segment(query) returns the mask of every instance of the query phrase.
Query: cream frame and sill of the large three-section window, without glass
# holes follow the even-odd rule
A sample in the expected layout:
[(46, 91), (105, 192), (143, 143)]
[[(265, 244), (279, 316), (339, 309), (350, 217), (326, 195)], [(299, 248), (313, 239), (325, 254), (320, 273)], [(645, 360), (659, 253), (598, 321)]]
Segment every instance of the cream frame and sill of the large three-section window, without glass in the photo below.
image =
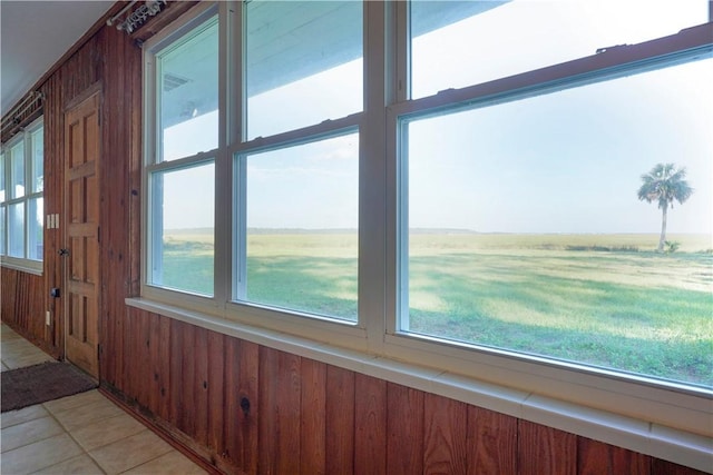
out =
[[(139, 298), (127, 304), (261, 345), (385, 378), (469, 404), (607, 442), (644, 454), (710, 469), (713, 462), (713, 390), (643, 376), (593, 369), (507, 350), (458, 345), (398, 330), (403, 294), (400, 217), (404, 211), (398, 142), (399, 121), (430, 111), (490, 103), (509, 95), (544, 93), (587, 81), (599, 81), (637, 69), (657, 68), (692, 51), (713, 50), (713, 23), (677, 34), (616, 48), (602, 55), (545, 67), (462, 89), (407, 99), (408, 24), (404, 2), (364, 3), (364, 110), (335, 121), (242, 142), (240, 98), (242, 2), (219, 2), (219, 145), (216, 164), (215, 295), (203, 298), (141, 285)], [(144, 191), (155, 141), (150, 51), (185, 33), (212, 3), (202, 4), (145, 46)], [(385, 27), (384, 27), (385, 26)], [(257, 149), (296, 144), (358, 128), (359, 177), (359, 321), (315, 318), (258, 305), (236, 303), (232, 289), (233, 194), (225, 180), (235, 177), (234, 157)], [(197, 159), (197, 158), (196, 158)], [(145, 202), (148, 202), (148, 197)], [(147, 205), (148, 206), (148, 205)], [(150, 239), (150, 214), (144, 208), (143, 259)], [(240, 221), (240, 218), (236, 219)]]

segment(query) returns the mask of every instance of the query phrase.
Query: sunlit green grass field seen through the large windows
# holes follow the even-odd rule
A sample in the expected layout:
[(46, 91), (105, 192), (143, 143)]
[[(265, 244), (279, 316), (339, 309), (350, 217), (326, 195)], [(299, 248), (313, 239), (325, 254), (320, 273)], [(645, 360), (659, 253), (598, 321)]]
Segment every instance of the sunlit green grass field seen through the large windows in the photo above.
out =
[[(419, 231), (411, 331), (713, 386), (710, 236)], [(248, 236), (247, 298), (356, 318), (355, 234)], [(212, 237), (166, 236), (164, 281), (211, 294)]]

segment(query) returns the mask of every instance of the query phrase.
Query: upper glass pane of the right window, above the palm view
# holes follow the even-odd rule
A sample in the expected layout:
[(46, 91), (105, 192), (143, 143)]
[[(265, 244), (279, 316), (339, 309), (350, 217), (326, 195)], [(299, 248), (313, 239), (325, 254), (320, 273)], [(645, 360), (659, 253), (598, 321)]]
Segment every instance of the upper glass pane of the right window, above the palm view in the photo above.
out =
[(673, 34), (707, 18), (706, 0), (413, 1), (411, 96)]

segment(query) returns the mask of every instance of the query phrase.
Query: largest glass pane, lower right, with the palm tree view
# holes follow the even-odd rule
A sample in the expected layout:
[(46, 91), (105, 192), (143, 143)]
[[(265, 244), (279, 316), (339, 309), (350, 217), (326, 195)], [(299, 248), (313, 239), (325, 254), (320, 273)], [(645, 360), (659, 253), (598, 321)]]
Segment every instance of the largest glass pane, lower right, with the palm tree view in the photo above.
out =
[(713, 386), (711, 83), (707, 59), (404, 126), (401, 328)]

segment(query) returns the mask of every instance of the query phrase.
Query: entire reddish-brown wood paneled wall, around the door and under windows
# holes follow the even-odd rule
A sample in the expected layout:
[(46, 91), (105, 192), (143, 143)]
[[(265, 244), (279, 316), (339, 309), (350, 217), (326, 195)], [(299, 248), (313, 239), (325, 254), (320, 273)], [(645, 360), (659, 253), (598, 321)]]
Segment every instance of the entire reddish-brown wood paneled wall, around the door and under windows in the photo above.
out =
[[(129, 308), (140, 278), (141, 51), (101, 28), (42, 86), (46, 212), (64, 211), (64, 111), (102, 95), (100, 379), (227, 473), (686, 474), (685, 467)], [(62, 346), (62, 230), (43, 277), (2, 269), (2, 320)], [(52, 311), (45, 326), (45, 310)]]

